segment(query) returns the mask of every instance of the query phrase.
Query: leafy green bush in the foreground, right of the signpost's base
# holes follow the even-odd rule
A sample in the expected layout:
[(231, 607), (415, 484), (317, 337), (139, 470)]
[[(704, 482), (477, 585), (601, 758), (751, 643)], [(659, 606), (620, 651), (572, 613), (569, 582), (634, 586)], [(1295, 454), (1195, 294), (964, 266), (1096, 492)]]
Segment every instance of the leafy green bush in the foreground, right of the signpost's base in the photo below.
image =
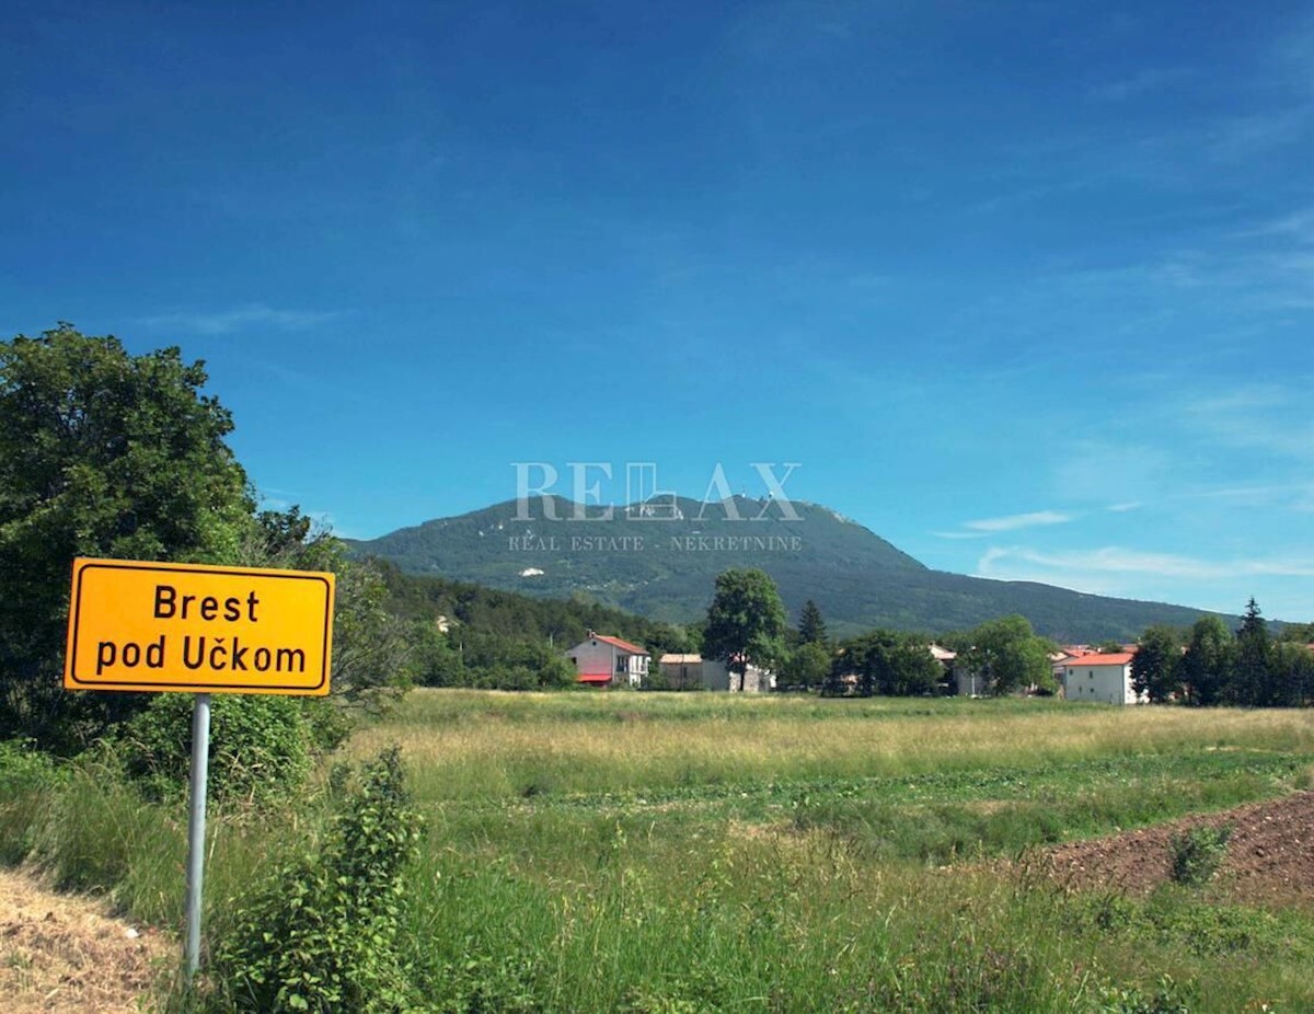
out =
[(398, 948), (402, 872), (419, 842), (396, 747), (343, 792), (318, 855), (276, 870), (238, 901), (210, 965), (215, 1009), (392, 1011), (409, 1006)]

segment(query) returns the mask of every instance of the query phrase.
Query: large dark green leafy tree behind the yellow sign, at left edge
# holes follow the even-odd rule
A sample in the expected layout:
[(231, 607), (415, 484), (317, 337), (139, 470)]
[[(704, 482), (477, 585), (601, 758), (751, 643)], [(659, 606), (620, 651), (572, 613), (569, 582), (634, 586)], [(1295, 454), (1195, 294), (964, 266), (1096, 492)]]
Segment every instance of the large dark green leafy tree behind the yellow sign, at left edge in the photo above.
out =
[(177, 348), (59, 324), (0, 343), (0, 738), (76, 750), (139, 695), (59, 686), (74, 557), (233, 562), (254, 508), (229, 411)]

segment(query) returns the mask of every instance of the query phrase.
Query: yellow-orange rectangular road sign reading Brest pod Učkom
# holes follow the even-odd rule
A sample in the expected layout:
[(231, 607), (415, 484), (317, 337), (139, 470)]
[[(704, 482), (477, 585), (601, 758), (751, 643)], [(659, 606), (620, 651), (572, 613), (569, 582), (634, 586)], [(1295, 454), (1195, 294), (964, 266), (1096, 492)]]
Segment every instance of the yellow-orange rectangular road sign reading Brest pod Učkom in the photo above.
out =
[(334, 575), (75, 560), (66, 690), (328, 692)]

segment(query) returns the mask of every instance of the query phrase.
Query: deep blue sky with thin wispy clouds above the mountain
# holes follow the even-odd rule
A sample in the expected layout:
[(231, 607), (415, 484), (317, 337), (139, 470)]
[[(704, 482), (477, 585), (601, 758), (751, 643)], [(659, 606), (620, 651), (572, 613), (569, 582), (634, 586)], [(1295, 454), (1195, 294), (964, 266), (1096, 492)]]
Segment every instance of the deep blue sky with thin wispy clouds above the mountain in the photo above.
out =
[(1314, 4), (32, 3), (0, 334), (204, 359), (271, 504), (715, 466), (1314, 619)]

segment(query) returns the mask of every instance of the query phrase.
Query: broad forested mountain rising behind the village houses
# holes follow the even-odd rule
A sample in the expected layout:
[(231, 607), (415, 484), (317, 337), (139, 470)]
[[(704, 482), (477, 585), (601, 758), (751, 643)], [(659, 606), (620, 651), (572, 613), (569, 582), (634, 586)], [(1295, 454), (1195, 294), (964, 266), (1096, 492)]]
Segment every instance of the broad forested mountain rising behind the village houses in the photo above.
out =
[(837, 634), (957, 630), (1021, 613), (1042, 634), (1089, 642), (1127, 640), (1155, 623), (1185, 627), (1202, 612), (930, 570), (861, 524), (798, 500), (679, 498), (616, 507), (610, 519), (604, 510), (558, 496), (509, 500), (351, 546), (410, 574), (543, 598), (583, 594), (677, 624), (706, 615), (716, 575), (731, 567), (770, 574), (795, 619), (815, 600)]

